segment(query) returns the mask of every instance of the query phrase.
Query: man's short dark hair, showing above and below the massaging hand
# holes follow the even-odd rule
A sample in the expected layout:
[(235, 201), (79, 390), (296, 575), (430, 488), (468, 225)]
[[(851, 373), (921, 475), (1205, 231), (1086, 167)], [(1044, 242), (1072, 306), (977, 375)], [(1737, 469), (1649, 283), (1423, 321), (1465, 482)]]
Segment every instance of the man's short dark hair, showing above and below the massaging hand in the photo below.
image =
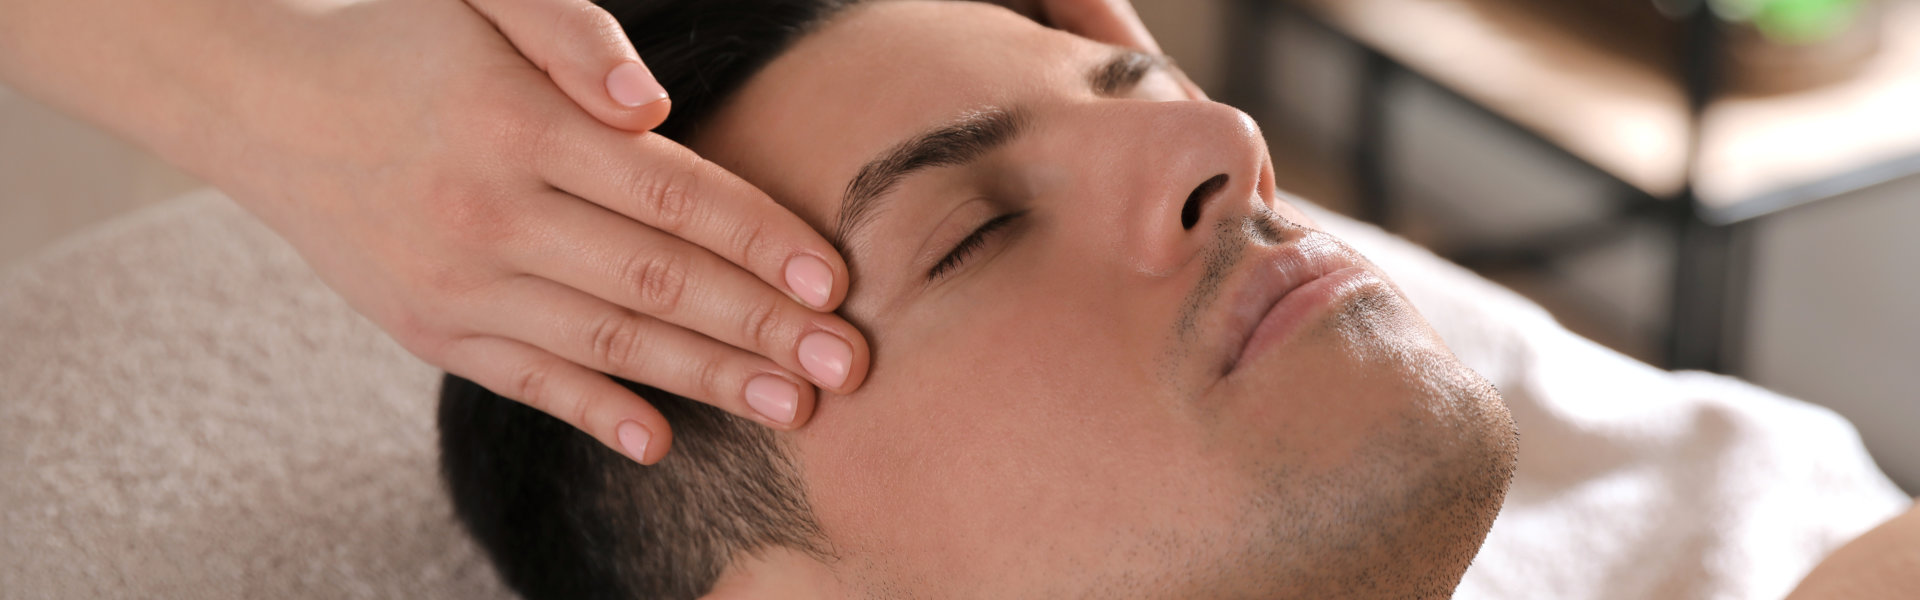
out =
[[(674, 98), (657, 133), (685, 142), (741, 85), (852, 0), (603, 0)], [(593, 437), (447, 375), (440, 465), (453, 510), (526, 598), (697, 598), (743, 552), (814, 556), (818, 525), (760, 425), (626, 383), (674, 427), (641, 467)]]

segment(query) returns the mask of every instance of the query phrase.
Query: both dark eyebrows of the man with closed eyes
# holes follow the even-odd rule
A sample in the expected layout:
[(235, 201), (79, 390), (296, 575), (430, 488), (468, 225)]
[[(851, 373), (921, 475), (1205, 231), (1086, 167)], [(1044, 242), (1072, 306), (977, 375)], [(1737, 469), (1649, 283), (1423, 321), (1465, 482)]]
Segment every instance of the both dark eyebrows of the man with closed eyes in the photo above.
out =
[[(1116, 96), (1140, 83), (1152, 69), (1167, 65), (1164, 56), (1116, 48), (1108, 60), (1087, 71), (1087, 87), (1094, 94)], [(847, 242), (874, 221), (879, 200), (902, 179), (925, 169), (973, 163), (989, 152), (1012, 144), (1027, 131), (1027, 125), (1029, 115), (1023, 108), (989, 106), (881, 152), (847, 181), (839, 217), (835, 217), (833, 233), (828, 238), (845, 254)]]

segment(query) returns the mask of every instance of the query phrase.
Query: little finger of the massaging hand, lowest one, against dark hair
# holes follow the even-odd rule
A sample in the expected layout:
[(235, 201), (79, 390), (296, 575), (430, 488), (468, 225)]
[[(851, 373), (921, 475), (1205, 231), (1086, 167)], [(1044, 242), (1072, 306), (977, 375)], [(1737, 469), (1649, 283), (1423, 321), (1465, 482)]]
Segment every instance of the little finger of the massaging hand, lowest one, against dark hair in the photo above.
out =
[(497, 337), (470, 337), (447, 348), (445, 367), (495, 394), (566, 421), (637, 463), (659, 462), (674, 444), (666, 417), (647, 400), (607, 375), (540, 348)]

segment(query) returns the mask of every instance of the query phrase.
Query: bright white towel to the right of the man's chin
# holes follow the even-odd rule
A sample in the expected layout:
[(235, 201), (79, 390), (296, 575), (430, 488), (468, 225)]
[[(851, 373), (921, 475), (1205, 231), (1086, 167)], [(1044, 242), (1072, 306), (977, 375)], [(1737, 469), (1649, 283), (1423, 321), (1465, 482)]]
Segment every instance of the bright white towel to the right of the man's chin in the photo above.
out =
[(1455, 598), (1784, 598), (1910, 504), (1832, 410), (1668, 373), (1375, 227), (1313, 212), (1494, 381), (1521, 465)]

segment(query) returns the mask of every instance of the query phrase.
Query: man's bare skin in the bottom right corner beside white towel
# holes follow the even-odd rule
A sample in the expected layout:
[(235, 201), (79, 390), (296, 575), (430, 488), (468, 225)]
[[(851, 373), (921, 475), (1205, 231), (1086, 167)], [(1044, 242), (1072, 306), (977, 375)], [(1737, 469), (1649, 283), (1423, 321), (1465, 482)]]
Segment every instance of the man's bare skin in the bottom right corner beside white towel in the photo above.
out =
[(1920, 504), (1834, 550), (1788, 600), (1914, 598), (1920, 590)]

